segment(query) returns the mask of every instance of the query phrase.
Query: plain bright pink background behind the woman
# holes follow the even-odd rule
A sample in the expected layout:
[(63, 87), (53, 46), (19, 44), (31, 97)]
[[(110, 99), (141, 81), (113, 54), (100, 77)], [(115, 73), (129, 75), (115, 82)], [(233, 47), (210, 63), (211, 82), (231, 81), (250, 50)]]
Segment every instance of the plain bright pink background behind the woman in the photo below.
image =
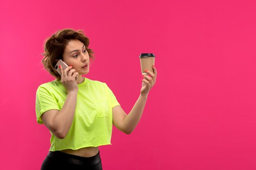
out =
[(139, 97), (140, 53), (155, 53), (157, 84), (131, 135), (115, 127), (104, 170), (256, 169), (255, 0), (0, 1), (0, 169), (38, 170), (50, 134), (35, 93), (53, 80), (44, 40), (82, 29), (128, 113)]

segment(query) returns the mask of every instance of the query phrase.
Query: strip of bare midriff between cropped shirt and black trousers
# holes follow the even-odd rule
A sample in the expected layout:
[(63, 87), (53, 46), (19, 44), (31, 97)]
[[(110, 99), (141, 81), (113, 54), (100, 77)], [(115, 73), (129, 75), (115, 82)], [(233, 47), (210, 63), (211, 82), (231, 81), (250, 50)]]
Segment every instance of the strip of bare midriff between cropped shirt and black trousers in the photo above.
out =
[(86, 148), (80, 148), (78, 150), (65, 149), (65, 150), (61, 150), (61, 152), (71, 154), (71, 155), (77, 155), (80, 157), (93, 157), (98, 154), (99, 147), (86, 147)]

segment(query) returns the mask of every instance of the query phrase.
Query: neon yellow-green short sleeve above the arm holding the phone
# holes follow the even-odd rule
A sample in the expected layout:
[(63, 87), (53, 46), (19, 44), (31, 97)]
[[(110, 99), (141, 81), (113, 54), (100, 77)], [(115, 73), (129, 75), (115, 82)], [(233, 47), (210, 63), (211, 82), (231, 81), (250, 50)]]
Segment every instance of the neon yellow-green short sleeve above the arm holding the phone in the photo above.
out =
[(41, 115), (52, 109), (60, 110), (56, 99), (45, 87), (39, 86), (36, 91), (36, 120), (38, 124), (43, 124)]

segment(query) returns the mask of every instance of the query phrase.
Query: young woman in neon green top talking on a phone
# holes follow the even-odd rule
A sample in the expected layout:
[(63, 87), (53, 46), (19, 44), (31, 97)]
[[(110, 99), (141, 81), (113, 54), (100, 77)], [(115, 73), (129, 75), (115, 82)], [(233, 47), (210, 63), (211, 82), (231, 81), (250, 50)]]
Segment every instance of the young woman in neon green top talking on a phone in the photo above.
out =
[[(99, 146), (110, 144), (112, 124), (130, 134), (137, 126), (154, 86), (157, 70), (142, 75), (139, 98), (127, 115), (105, 83), (83, 77), (89, 73), (92, 50), (83, 31), (63, 29), (45, 42), (43, 65), (56, 80), (42, 84), (36, 92), (36, 117), (50, 130), (51, 147), (41, 170), (101, 170)], [(61, 75), (58, 60), (68, 67)]]

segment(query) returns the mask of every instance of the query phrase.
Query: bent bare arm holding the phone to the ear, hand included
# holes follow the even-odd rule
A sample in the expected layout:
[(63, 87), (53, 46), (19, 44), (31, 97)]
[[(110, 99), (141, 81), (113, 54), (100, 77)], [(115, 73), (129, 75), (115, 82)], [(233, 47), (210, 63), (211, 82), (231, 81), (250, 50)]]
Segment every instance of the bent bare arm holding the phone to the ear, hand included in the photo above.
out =
[(67, 97), (61, 110), (48, 110), (41, 116), (45, 126), (59, 139), (64, 139), (70, 130), (76, 109), (78, 86), (76, 76), (79, 75), (72, 67), (61, 70), (61, 83), (67, 90)]

